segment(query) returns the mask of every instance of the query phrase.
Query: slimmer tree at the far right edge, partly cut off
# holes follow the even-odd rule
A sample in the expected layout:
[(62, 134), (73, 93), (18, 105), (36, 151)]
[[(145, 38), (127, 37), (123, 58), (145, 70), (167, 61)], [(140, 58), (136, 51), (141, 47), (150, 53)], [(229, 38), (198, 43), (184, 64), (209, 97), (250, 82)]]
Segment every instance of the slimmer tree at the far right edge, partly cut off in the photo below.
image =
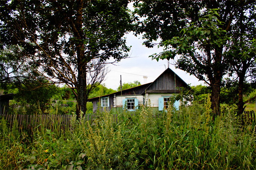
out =
[[(255, 67), (256, 61), (256, 3), (249, 4), (249, 7), (241, 7), (234, 18), (239, 19), (232, 27), (229, 41), (228, 59), (231, 65), (230, 75), (235, 73), (238, 79), (238, 115), (242, 114), (245, 107), (243, 102), (244, 86), (247, 77), (251, 77), (250, 72)], [(235, 79), (235, 80), (236, 80)]]

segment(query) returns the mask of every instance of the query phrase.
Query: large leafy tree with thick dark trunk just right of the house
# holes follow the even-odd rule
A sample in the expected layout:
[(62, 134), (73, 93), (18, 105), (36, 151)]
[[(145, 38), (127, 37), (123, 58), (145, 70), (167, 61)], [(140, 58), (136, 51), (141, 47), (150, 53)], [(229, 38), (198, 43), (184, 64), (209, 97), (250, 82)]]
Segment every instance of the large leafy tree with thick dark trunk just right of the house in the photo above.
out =
[[(145, 32), (144, 44), (152, 47), (153, 40), (161, 38), (159, 45), (165, 47), (153, 59), (169, 60), (180, 54), (176, 67), (210, 86), (211, 108), (218, 115), (222, 78), (234, 59), (229, 56), (232, 30), (238, 21), (247, 26), (242, 20), (247, 11), (248, 21), (255, 23), (255, 1), (143, 1), (135, 3), (135, 7), (138, 15), (147, 17), (138, 22), (136, 30), (137, 34)], [(247, 40), (252, 40), (250, 37)]]

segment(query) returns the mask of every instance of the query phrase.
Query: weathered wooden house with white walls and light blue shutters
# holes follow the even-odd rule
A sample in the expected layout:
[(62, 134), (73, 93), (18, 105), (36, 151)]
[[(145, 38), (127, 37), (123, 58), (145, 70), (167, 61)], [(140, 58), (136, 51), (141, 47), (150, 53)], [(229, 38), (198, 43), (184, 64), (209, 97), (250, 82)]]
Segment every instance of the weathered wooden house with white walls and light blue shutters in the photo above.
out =
[[(168, 68), (151, 83), (90, 98), (88, 101), (92, 102), (94, 112), (104, 108), (107, 111), (122, 112), (124, 109), (135, 111), (140, 106), (148, 104), (150, 100), (151, 107), (156, 112), (167, 108), (170, 97), (179, 94), (182, 87), (190, 88), (173, 70)], [(180, 101), (175, 101), (174, 106), (179, 109)]]

